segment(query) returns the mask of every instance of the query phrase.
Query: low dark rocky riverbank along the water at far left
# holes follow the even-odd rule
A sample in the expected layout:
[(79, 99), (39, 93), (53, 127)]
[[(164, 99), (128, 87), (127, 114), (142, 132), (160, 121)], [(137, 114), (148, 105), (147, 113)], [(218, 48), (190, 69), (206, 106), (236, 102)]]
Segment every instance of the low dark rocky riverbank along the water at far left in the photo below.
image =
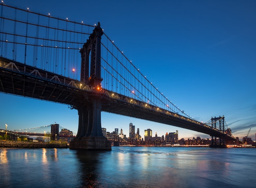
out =
[(67, 148), (67, 144), (46, 143), (46, 142), (22, 142), (22, 141), (2, 141), (0, 148)]

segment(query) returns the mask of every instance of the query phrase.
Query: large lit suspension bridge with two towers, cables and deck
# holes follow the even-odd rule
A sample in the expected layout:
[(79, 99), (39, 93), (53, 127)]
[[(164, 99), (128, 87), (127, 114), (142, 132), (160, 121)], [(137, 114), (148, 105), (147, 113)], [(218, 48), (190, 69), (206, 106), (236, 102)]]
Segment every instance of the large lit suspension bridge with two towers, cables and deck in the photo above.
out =
[(0, 92), (77, 109), (78, 131), (70, 148), (111, 149), (101, 131), (101, 111), (206, 133), (215, 147), (238, 140), (226, 131), (224, 116), (203, 123), (169, 101), (100, 23), (0, 5)]

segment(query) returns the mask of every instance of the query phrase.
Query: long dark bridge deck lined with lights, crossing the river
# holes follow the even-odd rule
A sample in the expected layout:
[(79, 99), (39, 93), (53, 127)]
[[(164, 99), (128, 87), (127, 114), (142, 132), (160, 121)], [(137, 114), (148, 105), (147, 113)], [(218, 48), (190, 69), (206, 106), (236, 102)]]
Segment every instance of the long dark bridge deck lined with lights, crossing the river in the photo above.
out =
[(210, 136), (233, 136), (180, 114), (148, 105), (108, 90), (94, 91), (77, 80), (0, 57), (0, 92), (76, 106), (91, 103), (90, 95), (102, 97), (102, 111), (190, 129)]

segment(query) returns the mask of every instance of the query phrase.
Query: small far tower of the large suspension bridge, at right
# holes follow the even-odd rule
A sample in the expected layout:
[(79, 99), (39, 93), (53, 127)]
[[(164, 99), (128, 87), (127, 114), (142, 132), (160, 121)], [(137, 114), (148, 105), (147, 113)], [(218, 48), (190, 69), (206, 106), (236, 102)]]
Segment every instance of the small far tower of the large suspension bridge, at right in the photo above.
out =
[[(216, 118), (216, 117), (211, 118), (211, 126), (214, 129), (218, 129), (219, 131), (222, 131), (223, 133), (225, 132), (224, 122), (225, 122), (225, 117), (224, 116), (218, 117), (218, 118)], [(219, 127), (217, 125), (219, 125)], [(220, 148), (226, 147), (224, 136), (220, 136), (219, 144), (217, 144), (216, 136), (211, 136), (211, 145), (210, 145), (210, 147), (220, 147)]]

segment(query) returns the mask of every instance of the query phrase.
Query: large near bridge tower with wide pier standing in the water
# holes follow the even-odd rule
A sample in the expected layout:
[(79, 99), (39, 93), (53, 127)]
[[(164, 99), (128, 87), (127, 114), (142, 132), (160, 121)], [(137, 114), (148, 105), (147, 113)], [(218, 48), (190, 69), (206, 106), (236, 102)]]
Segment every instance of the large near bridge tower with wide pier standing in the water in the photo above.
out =
[[(100, 23), (94, 28), (81, 53), (81, 82), (89, 84), (92, 92), (84, 98), (89, 99), (87, 105), (77, 101), (74, 106), (78, 110), (79, 126), (76, 139), (70, 142), (71, 149), (111, 150), (111, 142), (103, 136), (101, 130), (101, 36)], [(90, 66), (90, 67), (89, 67)], [(90, 71), (89, 71), (90, 70)]]

